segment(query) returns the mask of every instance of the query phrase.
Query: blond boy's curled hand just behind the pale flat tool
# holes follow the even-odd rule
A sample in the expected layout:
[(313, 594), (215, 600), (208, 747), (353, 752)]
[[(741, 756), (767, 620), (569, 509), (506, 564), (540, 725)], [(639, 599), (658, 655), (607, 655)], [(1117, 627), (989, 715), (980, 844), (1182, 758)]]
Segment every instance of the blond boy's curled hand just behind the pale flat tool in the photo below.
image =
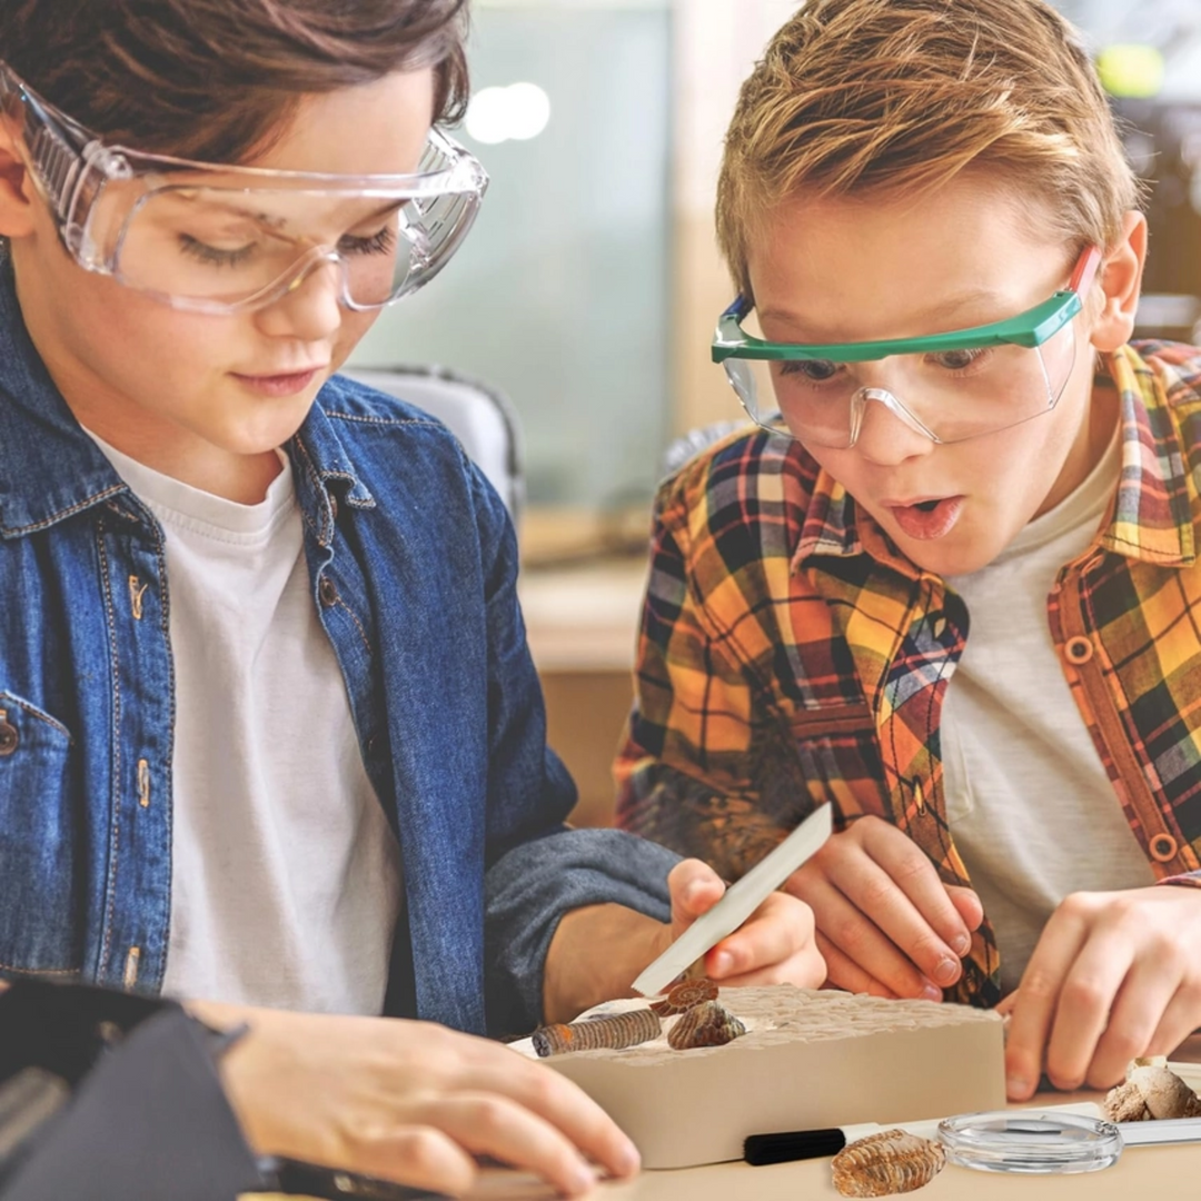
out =
[(943, 884), (921, 848), (877, 817), (831, 835), (784, 888), (813, 909), (827, 982), (876, 997), (942, 1000), (984, 920), (975, 892)]

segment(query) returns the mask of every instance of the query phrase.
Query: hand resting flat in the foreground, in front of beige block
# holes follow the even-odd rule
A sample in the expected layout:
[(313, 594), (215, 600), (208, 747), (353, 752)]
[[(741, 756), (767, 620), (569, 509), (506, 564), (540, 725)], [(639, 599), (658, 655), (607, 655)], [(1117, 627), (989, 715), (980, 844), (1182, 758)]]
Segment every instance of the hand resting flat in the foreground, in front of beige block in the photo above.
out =
[(193, 1003), (210, 1024), (245, 1021), (226, 1091), (251, 1146), (459, 1195), (478, 1157), (588, 1191), (587, 1160), (629, 1176), (634, 1145), (575, 1085), (497, 1042), (429, 1022)]

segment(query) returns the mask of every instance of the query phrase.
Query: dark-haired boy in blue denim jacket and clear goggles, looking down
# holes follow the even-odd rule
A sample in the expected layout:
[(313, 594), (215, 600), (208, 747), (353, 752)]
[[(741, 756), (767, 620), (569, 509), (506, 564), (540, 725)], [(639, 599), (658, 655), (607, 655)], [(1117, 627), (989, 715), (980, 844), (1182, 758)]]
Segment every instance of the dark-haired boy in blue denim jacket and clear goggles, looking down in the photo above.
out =
[[(722, 891), (564, 829), (503, 506), (333, 377), (483, 195), (437, 129), (462, 10), (0, 0), (0, 974), (249, 1021), (263, 1149), (574, 1193), (637, 1155), (562, 1080), (315, 1016), (568, 1018)], [(713, 972), (815, 982), (808, 916), (772, 898)]]

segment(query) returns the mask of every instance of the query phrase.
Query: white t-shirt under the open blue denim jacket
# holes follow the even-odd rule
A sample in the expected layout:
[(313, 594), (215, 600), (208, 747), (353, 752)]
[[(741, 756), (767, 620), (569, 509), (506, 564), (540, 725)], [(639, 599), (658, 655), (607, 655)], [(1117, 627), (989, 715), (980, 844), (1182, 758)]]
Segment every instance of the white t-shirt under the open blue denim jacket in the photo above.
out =
[(317, 616), (288, 459), (262, 503), (238, 504), (95, 441), (166, 531), (175, 731), (163, 992), (380, 1014), (400, 847)]

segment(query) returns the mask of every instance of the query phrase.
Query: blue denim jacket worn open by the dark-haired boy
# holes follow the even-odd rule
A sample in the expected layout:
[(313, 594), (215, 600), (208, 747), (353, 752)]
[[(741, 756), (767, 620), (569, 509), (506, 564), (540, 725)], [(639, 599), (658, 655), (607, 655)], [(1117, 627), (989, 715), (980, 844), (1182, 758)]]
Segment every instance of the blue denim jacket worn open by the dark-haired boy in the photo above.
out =
[[(155, 993), (172, 868), (163, 531), (80, 430), (0, 276), (0, 974)], [(675, 856), (563, 826), (575, 793), (545, 745), (513, 528), (454, 437), (335, 377), (286, 450), (313, 604), (401, 847), (387, 1011), (527, 1029), (562, 914), (615, 901), (667, 920)]]

